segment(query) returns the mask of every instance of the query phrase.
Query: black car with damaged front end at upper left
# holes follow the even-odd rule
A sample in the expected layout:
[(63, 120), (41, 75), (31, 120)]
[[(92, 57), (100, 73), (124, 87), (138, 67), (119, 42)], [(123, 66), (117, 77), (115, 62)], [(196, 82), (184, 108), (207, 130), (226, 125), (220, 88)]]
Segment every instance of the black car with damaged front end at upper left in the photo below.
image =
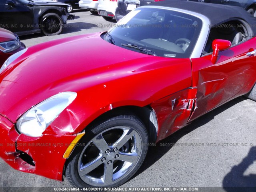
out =
[(74, 15), (67, 14), (68, 4), (48, 0), (0, 0), (0, 27), (18, 35), (43, 32), (57, 35)]

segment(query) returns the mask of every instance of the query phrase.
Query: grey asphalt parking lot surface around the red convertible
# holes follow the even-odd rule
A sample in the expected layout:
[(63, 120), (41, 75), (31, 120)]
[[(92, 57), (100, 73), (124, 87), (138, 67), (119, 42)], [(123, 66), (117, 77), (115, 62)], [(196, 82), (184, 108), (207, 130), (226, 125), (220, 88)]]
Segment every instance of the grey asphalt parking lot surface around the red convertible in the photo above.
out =
[[(58, 36), (33, 34), (20, 39), (30, 47), (49, 40), (106, 31), (116, 23), (85, 10), (74, 14), (75, 20), (68, 21)], [(95, 54), (100, 56), (100, 47)], [(123, 186), (256, 186), (255, 136), (256, 102), (236, 98), (150, 147), (140, 170)], [(0, 159), (0, 186), (69, 187), (65, 178), (64, 181), (19, 172)]]

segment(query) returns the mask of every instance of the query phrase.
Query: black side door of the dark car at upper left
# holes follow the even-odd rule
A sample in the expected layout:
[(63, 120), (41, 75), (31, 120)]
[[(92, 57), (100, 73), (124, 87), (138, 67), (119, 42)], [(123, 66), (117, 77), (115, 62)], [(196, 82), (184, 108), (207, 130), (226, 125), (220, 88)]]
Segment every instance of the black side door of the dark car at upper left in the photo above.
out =
[(34, 15), (26, 0), (0, 0), (0, 24), (12, 32), (33, 29)]

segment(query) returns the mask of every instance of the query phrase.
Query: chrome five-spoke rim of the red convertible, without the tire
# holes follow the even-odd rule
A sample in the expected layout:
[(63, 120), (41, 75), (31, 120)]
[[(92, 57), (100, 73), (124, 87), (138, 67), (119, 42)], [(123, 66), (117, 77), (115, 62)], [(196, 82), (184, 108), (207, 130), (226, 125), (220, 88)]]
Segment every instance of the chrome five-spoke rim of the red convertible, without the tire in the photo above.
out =
[(78, 160), (80, 178), (91, 186), (109, 186), (128, 174), (137, 164), (142, 138), (136, 130), (116, 126), (95, 136)]

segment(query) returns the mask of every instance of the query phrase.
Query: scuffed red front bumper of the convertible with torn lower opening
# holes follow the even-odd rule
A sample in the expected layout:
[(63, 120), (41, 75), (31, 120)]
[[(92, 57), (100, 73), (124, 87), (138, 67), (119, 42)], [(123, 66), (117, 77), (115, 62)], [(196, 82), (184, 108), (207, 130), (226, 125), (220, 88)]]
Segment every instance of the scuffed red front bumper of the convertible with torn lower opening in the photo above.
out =
[[(63, 155), (76, 135), (43, 135), (32, 138), (18, 134), (15, 125), (2, 115), (0, 115), (0, 135), (0, 157), (12, 168), (62, 180), (66, 162)], [(33, 161), (26, 158), (29, 156)]]

